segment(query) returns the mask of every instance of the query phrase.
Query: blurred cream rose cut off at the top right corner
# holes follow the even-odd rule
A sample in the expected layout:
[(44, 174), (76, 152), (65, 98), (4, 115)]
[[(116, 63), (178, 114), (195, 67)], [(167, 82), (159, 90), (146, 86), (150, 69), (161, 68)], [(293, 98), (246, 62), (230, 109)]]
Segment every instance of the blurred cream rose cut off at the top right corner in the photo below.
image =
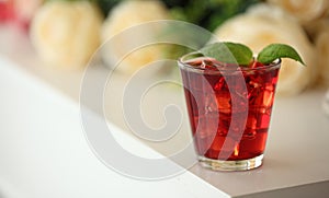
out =
[[(268, 0), (297, 18), (300, 22), (310, 22), (324, 16), (329, 10), (328, 0)], [(269, 13), (270, 14), (270, 13)]]

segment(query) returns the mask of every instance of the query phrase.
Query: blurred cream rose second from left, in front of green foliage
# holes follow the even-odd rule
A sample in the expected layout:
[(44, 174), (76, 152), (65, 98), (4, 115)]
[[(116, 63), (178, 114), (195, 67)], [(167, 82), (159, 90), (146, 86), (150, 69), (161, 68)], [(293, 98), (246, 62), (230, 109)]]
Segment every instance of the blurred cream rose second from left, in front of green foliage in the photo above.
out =
[[(163, 56), (162, 45), (138, 46), (141, 40), (152, 40), (161, 34), (157, 25), (149, 24), (137, 32), (129, 27), (150, 21), (169, 19), (168, 10), (157, 0), (123, 1), (115, 7), (102, 28), (102, 59), (109, 67), (124, 73), (133, 73), (139, 68), (157, 61)], [(128, 34), (121, 34), (123, 31)], [(118, 37), (112, 39), (116, 34)], [(111, 39), (111, 42), (107, 42)], [(134, 49), (132, 51), (131, 49)], [(127, 54), (128, 53), (128, 54)], [(124, 58), (124, 59), (123, 59)], [(120, 62), (122, 60), (122, 62)], [(120, 62), (120, 65), (117, 65)]]

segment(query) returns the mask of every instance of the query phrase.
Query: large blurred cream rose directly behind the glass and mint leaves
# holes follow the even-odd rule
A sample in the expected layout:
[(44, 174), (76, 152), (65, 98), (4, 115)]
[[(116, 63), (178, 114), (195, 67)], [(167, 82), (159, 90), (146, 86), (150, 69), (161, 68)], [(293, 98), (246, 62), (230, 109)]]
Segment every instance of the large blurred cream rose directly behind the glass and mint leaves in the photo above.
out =
[(248, 13), (228, 20), (214, 34), (219, 40), (246, 44), (256, 54), (272, 43), (293, 46), (307, 67), (291, 59), (283, 59), (277, 84), (280, 94), (297, 94), (310, 85), (317, 77), (314, 46), (302, 27), (277, 8), (257, 5)]

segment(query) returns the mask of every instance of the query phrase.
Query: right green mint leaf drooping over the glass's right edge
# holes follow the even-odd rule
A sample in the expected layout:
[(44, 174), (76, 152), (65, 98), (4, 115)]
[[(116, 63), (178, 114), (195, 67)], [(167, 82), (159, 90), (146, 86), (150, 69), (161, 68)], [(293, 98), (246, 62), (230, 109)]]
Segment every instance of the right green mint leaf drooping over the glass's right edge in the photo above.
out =
[(263, 65), (269, 65), (277, 58), (291, 58), (304, 63), (298, 53), (291, 46), (285, 44), (270, 44), (263, 48), (257, 57), (257, 60)]

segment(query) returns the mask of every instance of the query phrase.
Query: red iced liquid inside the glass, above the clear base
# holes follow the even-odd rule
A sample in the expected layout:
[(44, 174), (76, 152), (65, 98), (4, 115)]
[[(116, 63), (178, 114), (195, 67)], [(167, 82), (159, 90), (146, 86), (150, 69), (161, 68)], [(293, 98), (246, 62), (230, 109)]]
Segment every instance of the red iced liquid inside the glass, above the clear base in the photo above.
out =
[[(218, 72), (214, 60), (211, 59), (198, 58), (185, 63), (197, 69), (181, 68), (197, 154), (214, 160), (247, 160), (262, 154), (265, 149), (280, 67), (264, 67), (253, 62), (250, 67), (256, 69), (242, 69), (246, 90), (246, 86), (236, 82), (237, 72), (226, 72), (227, 67), (230, 66), (220, 66), (223, 70)], [(229, 92), (228, 81), (230, 90), (236, 90), (237, 93)], [(245, 90), (247, 93), (239, 93), (239, 90)], [(232, 97), (238, 98), (241, 94), (247, 96), (247, 104), (239, 104), (239, 108), (235, 112), (238, 117), (231, 120)], [(246, 116), (239, 117), (242, 114), (248, 115), (247, 120)], [(231, 132), (228, 135), (228, 129), (234, 123), (246, 124), (242, 129), (237, 130), (243, 131), (242, 137)], [(234, 151), (223, 150), (225, 141), (234, 148)], [(219, 152), (229, 152), (229, 158), (218, 158)]]

